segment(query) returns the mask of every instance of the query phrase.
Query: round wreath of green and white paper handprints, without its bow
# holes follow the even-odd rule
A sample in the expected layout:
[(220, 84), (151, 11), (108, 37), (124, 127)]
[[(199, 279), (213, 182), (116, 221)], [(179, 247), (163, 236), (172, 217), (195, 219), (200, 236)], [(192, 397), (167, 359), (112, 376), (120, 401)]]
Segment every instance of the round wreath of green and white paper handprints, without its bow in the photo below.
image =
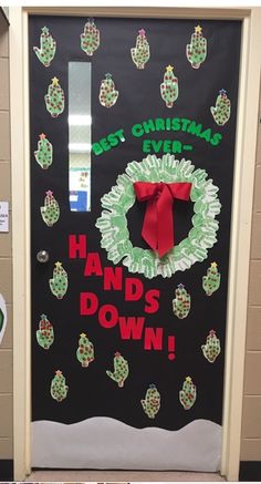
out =
[[(126, 214), (136, 200), (134, 182), (192, 184), (192, 228), (187, 238), (161, 258), (152, 249), (134, 247), (129, 240)], [(221, 208), (218, 190), (205, 169), (195, 169), (185, 158), (178, 161), (174, 155), (166, 154), (163, 158), (148, 155), (139, 163), (130, 162), (126, 172), (118, 175), (116, 185), (101, 199), (104, 209), (96, 220), (102, 234), (101, 247), (106, 249), (108, 260), (118, 264), (123, 259), (129, 272), (143, 274), (148, 279), (171, 277), (178, 270), (189, 269), (195, 262), (205, 260), (208, 249), (217, 241), (219, 223), (216, 216)]]

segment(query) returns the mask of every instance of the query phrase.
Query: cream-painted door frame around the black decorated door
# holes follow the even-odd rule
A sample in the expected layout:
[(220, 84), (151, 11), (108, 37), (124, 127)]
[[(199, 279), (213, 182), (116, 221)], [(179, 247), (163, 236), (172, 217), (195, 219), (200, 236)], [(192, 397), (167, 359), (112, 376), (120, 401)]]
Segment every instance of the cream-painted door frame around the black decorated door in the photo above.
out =
[[(160, 4), (160, 1), (158, 1)], [(10, 8), (10, 102), (13, 240), (13, 453), (14, 480), (31, 472), (30, 295), (30, 14), (242, 20), (236, 165), (227, 307), (221, 474), (239, 475), (249, 258), (260, 90), (261, 8)], [(257, 124), (255, 124), (257, 122)], [(244, 163), (247, 161), (247, 163)]]

